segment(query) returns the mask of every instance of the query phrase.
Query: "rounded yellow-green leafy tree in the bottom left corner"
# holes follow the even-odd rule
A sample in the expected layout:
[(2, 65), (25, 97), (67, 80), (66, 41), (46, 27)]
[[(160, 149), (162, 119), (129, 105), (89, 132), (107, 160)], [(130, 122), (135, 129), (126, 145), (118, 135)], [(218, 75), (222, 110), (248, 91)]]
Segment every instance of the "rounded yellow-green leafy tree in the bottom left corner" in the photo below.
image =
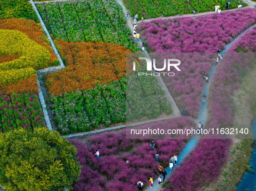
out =
[(78, 181), (77, 150), (56, 131), (0, 134), (0, 185), (6, 191), (64, 191)]

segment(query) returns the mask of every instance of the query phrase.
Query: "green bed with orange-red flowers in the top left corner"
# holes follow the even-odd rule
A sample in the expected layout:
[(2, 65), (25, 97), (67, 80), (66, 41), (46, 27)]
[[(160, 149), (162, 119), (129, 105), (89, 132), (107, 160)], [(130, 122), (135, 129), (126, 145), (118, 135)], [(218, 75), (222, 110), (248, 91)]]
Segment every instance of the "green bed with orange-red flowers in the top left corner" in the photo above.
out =
[(32, 5), (27, 0), (1, 0), (0, 19), (26, 18), (39, 22)]

